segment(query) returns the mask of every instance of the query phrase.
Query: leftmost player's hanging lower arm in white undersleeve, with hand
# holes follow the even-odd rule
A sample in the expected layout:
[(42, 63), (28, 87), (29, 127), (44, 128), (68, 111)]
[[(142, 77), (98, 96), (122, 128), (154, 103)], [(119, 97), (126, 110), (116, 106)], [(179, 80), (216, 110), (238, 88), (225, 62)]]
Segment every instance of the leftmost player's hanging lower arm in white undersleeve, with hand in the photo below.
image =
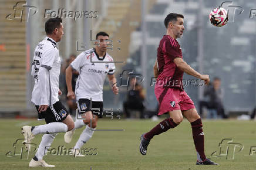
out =
[(47, 88), (46, 88), (47, 86), (49, 86), (48, 74), (49, 74), (49, 69), (41, 66), (38, 74), (39, 88), (41, 90), (41, 101), (40, 101), (40, 106), (38, 108), (39, 113), (41, 113), (42, 111), (46, 111), (48, 108)]

